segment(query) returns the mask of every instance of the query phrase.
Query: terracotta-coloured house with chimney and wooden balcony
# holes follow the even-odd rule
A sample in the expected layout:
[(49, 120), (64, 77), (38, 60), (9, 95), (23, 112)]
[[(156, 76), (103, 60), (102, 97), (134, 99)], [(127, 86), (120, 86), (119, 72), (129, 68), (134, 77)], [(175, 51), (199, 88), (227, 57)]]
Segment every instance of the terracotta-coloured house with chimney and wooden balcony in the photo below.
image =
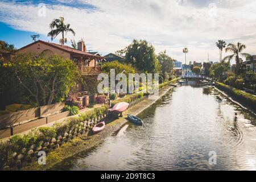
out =
[(77, 64), (81, 75), (98, 75), (101, 72), (100, 63), (104, 59), (102, 56), (86, 52), (86, 46), (83, 41), (78, 42), (77, 49), (75, 49), (38, 40), (18, 49), (18, 53), (27, 52), (46, 53), (46, 55), (57, 54), (63, 56), (64, 59), (73, 60)]

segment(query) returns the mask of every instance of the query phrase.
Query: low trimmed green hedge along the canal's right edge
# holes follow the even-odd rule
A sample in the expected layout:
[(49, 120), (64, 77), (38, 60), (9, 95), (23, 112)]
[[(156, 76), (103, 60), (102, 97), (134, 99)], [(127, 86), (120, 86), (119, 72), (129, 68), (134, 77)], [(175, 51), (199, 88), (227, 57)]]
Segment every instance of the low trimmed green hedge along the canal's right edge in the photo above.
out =
[(233, 88), (232, 86), (223, 84), (221, 82), (216, 82), (216, 87), (229, 93), (234, 98), (237, 98), (237, 100), (251, 107), (251, 109), (253, 109), (254, 111), (256, 110), (256, 96), (254, 96), (253, 94), (243, 92), (240, 89)]

